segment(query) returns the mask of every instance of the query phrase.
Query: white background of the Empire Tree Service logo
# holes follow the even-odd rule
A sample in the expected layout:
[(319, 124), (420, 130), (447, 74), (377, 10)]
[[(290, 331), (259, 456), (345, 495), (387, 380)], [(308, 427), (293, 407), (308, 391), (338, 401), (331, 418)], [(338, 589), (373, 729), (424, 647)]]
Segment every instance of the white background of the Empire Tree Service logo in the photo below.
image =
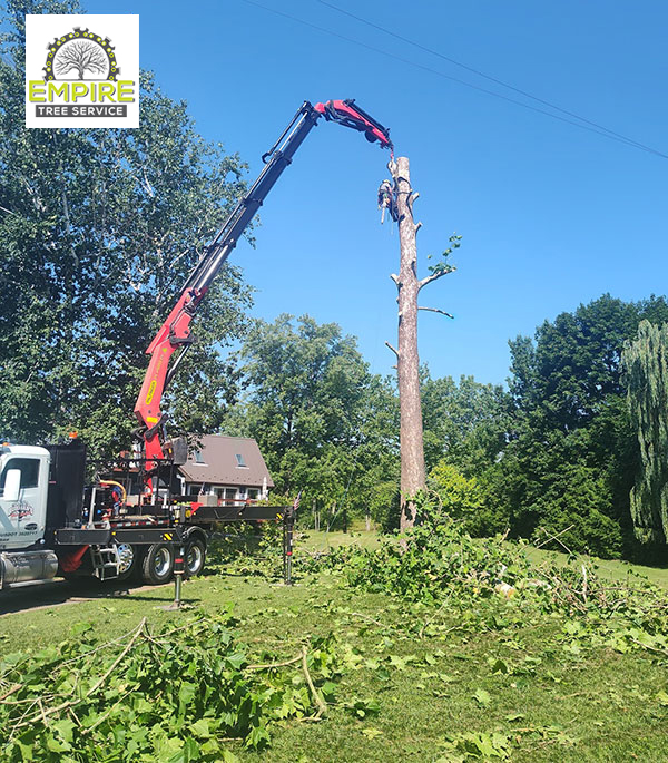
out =
[[(127, 102), (126, 117), (95, 117), (95, 116), (68, 116), (56, 117), (36, 116), (35, 101), (29, 100), (29, 82), (45, 79), (45, 66), (49, 47), (56, 38), (61, 38), (73, 31), (75, 27), (81, 30), (89, 29), (96, 36), (108, 38), (114, 47), (114, 58), (118, 65), (117, 82), (134, 82), (135, 100)], [(68, 42), (67, 46), (71, 46)], [(58, 86), (63, 82), (73, 84), (84, 81), (87, 84), (99, 84), (107, 80), (111, 74), (109, 61), (99, 56), (101, 48), (91, 49), (92, 59), (90, 67), (84, 71), (84, 80), (79, 79), (79, 74), (75, 68), (66, 69), (63, 63), (53, 69), (55, 80)], [(58, 57), (62, 57), (66, 46), (59, 51)], [(96, 63), (97, 59), (97, 63)], [(57, 59), (58, 60), (58, 59)], [(59, 101), (60, 104), (65, 101)], [(72, 101), (70, 100), (70, 104)], [(111, 104), (105, 100), (105, 104)], [(43, 101), (46, 106), (56, 106), (57, 101)], [(77, 106), (99, 105), (90, 96), (78, 98)], [(26, 16), (26, 127), (139, 127), (139, 17), (136, 14), (28, 14)]]

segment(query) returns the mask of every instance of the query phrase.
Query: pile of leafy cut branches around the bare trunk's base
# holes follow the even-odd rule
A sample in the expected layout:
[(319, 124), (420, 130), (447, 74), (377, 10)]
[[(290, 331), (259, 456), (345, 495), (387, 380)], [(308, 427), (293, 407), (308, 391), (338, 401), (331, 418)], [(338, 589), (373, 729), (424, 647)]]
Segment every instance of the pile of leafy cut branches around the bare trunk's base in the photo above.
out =
[[(513, 599), (523, 622), (566, 615), (563, 638), (617, 652), (646, 649), (668, 657), (668, 595), (642, 578), (608, 580), (591, 561), (531, 564), (525, 544), (473, 539), (432, 502), (420, 524), (385, 537), (379, 548), (346, 546), (304, 558), (304, 569), (332, 569), (350, 585), (426, 605), (448, 603), (463, 620), (477, 601)], [(576, 557), (572, 557), (571, 563)]]

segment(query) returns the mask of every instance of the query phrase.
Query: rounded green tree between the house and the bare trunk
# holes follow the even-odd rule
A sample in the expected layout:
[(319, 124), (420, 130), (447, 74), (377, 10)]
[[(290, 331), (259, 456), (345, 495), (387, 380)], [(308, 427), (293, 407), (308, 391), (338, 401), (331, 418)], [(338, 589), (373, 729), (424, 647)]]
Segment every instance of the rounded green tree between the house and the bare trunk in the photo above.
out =
[(225, 430), (258, 441), (278, 491), (303, 490), (306, 505), (369, 506), (381, 519), (379, 485), (397, 487), (397, 401), (356, 340), (284, 314), (258, 321), (240, 354), (248, 391)]

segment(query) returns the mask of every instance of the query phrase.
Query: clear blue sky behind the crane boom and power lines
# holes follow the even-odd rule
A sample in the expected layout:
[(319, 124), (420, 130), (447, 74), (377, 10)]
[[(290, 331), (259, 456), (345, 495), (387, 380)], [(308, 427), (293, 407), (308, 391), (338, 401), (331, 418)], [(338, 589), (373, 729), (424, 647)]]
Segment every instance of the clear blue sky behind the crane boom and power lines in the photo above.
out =
[[(328, 1), (668, 154), (660, 0)], [(576, 120), (318, 0), (257, 2), (411, 63), (244, 0), (82, 0), (91, 13), (139, 13), (141, 66), (188, 101), (206, 138), (249, 163), (248, 179), (304, 99), (355, 98), (391, 127), (421, 195), (423, 274), (428, 254), (463, 236), (456, 273), (421, 300), (455, 315), (420, 315), (433, 375), (502, 382), (510, 338), (605, 292), (667, 291), (666, 158), (453, 81)], [(386, 162), (353, 130), (321, 124), (263, 207), (257, 248), (233, 254), (257, 290), (256, 316), (335, 321), (379, 373), (391, 372), (383, 343), (396, 338), (399, 237), (376, 209)]]

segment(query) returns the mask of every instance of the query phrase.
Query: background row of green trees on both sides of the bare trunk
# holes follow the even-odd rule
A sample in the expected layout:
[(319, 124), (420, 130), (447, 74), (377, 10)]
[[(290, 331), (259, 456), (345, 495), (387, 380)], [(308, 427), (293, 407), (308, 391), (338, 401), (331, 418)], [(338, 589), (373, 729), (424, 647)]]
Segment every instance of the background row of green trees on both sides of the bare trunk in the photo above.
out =
[[(510, 341), (508, 389), (423, 366), (430, 489), (479, 536), (608, 557), (632, 555), (638, 537), (665, 541), (667, 321), (662, 296), (605, 294)], [(240, 373), (224, 427), (258, 441), (279, 492), (395, 525), (396, 385), (370, 372), (353, 338), (308, 316), (259, 321)]]

